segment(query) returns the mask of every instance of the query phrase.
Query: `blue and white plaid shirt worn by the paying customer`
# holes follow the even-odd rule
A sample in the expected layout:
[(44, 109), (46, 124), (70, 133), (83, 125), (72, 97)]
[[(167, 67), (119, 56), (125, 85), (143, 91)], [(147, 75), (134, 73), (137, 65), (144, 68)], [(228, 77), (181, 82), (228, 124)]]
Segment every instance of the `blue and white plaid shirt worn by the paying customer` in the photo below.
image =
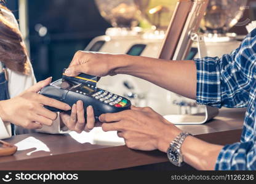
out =
[(223, 147), (215, 169), (256, 170), (256, 29), (230, 55), (195, 59), (195, 63), (198, 104), (248, 107), (241, 142)]

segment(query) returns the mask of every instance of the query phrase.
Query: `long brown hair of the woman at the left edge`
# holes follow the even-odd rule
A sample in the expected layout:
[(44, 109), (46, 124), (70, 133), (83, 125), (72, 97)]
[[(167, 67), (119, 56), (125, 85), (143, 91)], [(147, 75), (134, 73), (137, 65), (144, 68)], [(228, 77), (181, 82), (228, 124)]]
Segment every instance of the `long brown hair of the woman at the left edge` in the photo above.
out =
[(12, 71), (30, 73), (30, 64), (22, 35), (15, 23), (4, 17), (2, 10), (8, 10), (0, 0), (0, 61)]

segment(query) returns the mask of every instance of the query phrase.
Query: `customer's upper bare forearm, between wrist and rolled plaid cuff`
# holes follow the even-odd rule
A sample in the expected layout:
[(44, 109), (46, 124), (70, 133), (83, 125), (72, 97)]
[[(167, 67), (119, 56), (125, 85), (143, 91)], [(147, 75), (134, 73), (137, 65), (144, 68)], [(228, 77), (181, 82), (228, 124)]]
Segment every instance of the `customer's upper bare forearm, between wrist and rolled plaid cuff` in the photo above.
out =
[(166, 61), (129, 55), (116, 57), (116, 73), (133, 75), (166, 90), (196, 99), (196, 65), (193, 61)]

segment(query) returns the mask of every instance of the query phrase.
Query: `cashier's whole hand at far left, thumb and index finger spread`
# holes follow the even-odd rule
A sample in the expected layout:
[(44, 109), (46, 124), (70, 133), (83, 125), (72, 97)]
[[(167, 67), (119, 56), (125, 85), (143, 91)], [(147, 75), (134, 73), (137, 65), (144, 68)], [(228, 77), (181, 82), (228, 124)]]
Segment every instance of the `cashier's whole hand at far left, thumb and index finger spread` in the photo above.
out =
[(70, 110), (68, 104), (38, 94), (44, 86), (49, 85), (52, 77), (36, 83), (15, 98), (0, 101), (2, 121), (13, 123), (27, 129), (39, 129), (42, 125), (50, 126), (57, 118), (57, 113), (44, 108), (44, 105), (61, 110)]

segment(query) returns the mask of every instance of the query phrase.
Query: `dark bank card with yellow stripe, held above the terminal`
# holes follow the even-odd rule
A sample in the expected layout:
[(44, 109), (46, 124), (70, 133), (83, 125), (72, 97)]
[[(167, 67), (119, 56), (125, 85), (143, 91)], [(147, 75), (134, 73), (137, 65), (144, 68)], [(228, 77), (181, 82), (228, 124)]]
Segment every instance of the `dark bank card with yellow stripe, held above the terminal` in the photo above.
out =
[(100, 80), (100, 77), (88, 74), (79, 74), (76, 77), (69, 77), (65, 75), (65, 71), (66, 69), (63, 70), (62, 79), (70, 80), (71, 82), (78, 82), (85, 85), (92, 85), (95, 87), (97, 85), (98, 80)]

